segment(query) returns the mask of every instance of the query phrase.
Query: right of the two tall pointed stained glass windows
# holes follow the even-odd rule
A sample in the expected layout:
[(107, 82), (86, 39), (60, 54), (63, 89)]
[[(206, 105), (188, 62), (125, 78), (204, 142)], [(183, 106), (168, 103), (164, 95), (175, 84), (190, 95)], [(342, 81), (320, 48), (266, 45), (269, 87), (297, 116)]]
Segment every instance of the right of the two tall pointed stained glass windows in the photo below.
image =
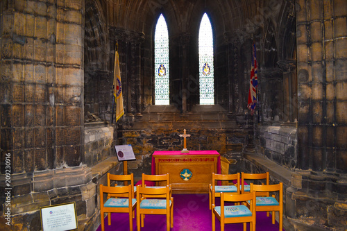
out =
[(198, 33), (200, 104), (214, 104), (212, 26), (205, 13)]

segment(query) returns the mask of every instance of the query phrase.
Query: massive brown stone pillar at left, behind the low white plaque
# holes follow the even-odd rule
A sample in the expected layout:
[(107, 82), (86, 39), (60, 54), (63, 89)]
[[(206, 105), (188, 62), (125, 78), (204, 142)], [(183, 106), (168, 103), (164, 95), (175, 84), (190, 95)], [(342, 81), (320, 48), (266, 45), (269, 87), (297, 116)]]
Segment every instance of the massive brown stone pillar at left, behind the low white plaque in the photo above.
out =
[(41, 230), (40, 207), (71, 201), (78, 221), (88, 219), (95, 192), (85, 194), (94, 183), (81, 164), (84, 1), (1, 1), (0, 7), (1, 163), (10, 155), (6, 187), (12, 189), (1, 210), (10, 210), (12, 230)]

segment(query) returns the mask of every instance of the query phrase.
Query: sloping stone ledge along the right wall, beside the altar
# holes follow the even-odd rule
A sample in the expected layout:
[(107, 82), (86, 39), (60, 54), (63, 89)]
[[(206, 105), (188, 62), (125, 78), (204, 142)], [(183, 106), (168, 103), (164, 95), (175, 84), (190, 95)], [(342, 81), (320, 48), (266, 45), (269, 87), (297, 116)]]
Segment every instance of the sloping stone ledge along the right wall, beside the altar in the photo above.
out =
[(283, 184), (290, 186), (292, 171), (286, 169), (276, 162), (273, 162), (262, 155), (257, 155), (256, 153), (244, 153), (244, 158), (251, 161), (256, 166), (260, 166), (264, 171), (269, 171), (270, 176), (276, 178)]

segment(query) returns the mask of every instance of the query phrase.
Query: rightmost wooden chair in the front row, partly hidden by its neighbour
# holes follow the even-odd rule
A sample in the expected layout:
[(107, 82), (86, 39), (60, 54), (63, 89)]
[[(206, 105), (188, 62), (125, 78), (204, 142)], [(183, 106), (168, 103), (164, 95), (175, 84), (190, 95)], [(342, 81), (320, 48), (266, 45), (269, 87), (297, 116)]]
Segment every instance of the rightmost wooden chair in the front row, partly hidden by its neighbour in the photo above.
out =
[[(251, 192), (255, 192), (257, 196), (257, 202), (255, 209), (256, 211), (272, 211), (272, 223), (275, 224), (275, 212), (279, 212), (280, 231), (283, 226), (283, 183), (280, 182), (278, 185), (253, 185), (251, 183)], [(264, 192), (276, 192), (278, 191), (278, 199), (275, 195), (271, 196), (258, 196), (264, 195)]]

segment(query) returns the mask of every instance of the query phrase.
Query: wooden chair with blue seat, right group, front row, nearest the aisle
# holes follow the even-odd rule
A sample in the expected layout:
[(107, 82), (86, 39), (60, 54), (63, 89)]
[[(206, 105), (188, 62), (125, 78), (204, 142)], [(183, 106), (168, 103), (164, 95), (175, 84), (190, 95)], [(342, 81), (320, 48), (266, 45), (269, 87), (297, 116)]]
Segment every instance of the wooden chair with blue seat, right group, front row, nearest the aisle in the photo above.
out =
[[(226, 201), (241, 205), (226, 206)], [(226, 223), (244, 223), (246, 231), (248, 222), (250, 230), (255, 231), (255, 216), (255, 193), (235, 195), (221, 192), (221, 206), (212, 205), (212, 231), (216, 230), (216, 217), (221, 222), (221, 231), (224, 231)]]

